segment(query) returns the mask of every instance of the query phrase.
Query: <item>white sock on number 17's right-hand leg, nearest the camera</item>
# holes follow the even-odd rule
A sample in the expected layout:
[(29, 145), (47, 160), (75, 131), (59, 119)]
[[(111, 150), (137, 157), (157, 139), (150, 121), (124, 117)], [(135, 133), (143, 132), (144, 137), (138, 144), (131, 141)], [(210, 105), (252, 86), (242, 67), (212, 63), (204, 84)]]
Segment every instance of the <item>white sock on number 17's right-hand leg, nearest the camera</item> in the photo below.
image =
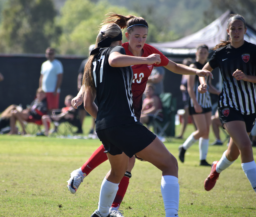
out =
[(178, 216), (179, 182), (175, 176), (162, 176), (161, 192), (164, 200), (165, 216)]

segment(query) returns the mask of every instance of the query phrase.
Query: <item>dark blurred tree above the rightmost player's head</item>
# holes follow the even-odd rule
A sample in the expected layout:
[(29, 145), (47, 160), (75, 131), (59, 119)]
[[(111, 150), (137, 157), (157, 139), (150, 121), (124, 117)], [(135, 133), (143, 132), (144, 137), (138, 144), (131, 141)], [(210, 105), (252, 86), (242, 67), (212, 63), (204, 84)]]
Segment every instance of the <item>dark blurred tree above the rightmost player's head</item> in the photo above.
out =
[(220, 13), (231, 10), (242, 15), (246, 23), (256, 28), (256, 0), (209, 0), (211, 7), (204, 13), (206, 23), (211, 23)]

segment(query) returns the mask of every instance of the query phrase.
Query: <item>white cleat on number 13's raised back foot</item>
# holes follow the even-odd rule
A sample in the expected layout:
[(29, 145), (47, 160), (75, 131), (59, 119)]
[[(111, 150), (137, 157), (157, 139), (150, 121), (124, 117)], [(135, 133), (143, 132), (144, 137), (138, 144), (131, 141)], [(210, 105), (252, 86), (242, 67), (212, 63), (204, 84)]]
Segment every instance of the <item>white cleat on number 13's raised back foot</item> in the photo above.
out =
[(67, 181), (67, 188), (71, 194), (77, 192), (79, 185), (83, 182), (84, 177), (86, 177), (86, 173), (83, 173), (81, 168), (74, 170), (70, 173), (70, 179)]

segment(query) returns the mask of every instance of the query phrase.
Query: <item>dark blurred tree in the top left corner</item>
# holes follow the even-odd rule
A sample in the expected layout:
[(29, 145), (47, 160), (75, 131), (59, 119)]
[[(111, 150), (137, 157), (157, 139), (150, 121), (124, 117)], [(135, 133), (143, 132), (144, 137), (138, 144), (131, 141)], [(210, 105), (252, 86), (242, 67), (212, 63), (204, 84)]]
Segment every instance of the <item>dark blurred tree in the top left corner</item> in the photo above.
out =
[(7, 0), (2, 11), (0, 52), (44, 52), (61, 34), (55, 25), (56, 14), (51, 0)]

